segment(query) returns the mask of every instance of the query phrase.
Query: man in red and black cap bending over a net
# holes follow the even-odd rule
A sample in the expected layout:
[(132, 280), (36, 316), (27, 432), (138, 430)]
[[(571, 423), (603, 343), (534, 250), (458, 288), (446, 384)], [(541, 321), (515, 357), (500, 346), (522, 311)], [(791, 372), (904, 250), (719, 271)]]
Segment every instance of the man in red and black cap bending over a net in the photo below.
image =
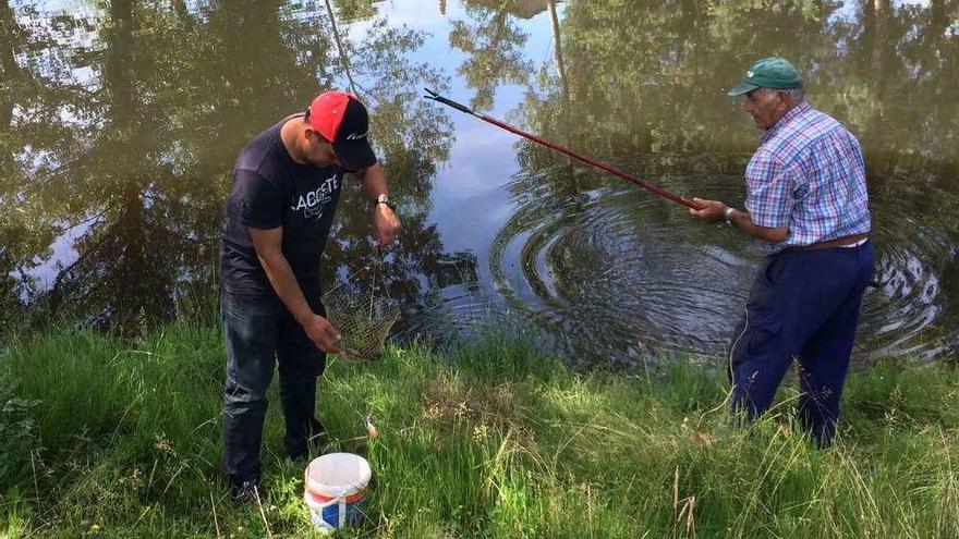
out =
[(304, 114), (257, 135), (236, 158), (220, 252), (220, 308), (227, 342), (222, 469), (236, 499), (260, 492), (259, 445), (266, 391), (279, 364), (283, 445), (308, 455), (323, 434), (314, 416), (316, 379), (339, 352), (324, 317), (319, 261), (351, 172), (373, 200), (378, 247), (400, 228), (387, 182), (369, 147), (366, 108), (326, 91)]

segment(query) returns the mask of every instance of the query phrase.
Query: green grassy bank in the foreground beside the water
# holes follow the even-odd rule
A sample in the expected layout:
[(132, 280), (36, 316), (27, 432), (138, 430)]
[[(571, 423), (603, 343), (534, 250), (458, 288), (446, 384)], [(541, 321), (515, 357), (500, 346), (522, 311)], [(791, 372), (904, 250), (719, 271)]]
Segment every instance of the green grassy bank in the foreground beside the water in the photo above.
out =
[[(9, 537), (313, 537), (274, 395), (263, 507), (217, 473), (224, 355), (215, 330), (131, 344), (93, 333), (0, 358), (0, 530)], [(274, 384), (276, 387), (276, 383)], [(274, 388), (275, 389), (275, 388)], [(852, 376), (838, 443), (781, 415), (733, 429), (721, 375), (575, 375), (520, 338), (437, 357), (333, 362), (331, 450), (374, 469), (371, 522), (343, 537), (959, 537), (959, 373)], [(374, 414), (380, 437), (365, 438)]]

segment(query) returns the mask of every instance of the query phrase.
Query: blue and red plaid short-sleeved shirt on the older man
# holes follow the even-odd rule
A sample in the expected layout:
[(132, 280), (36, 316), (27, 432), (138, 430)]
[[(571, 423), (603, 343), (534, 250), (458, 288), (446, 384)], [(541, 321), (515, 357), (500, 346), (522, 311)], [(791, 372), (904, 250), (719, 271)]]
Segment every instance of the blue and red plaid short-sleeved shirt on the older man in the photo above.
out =
[(859, 140), (806, 102), (766, 131), (745, 181), (745, 209), (753, 223), (789, 226), (779, 249), (870, 231)]

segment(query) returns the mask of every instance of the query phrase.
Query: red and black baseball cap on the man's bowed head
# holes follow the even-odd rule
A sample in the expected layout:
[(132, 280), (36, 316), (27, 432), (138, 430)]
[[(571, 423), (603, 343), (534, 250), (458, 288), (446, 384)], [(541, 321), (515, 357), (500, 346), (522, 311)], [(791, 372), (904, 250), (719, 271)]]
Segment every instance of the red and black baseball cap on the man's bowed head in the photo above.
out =
[(309, 105), (309, 126), (333, 145), (343, 168), (360, 170), (376, 164), (366, 131), (369, 114), (356, 96), (347, 91), (324, 91)]

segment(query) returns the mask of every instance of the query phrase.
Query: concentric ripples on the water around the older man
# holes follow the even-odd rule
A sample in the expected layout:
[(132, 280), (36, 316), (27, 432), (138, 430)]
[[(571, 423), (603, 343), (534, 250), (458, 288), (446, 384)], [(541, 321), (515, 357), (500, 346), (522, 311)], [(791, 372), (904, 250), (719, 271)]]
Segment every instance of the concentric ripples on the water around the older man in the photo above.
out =
[[(739, 176), (664, 182), (741, 207)], [(518, 176), (512, 189), (519, 208), (490, 246), (496, 290), (561, 352), (592, 364), (725, 352), (763, 261), (760, 242), (616, 180), (556, 169)], [(864, 301), (861, 359), (927, 359), (957, 344), (959, 296), (942, 285), (957, 270), (955, 233), (945, 220), (915, 222), (911, 205), (901, 193), (873, 194), (878, 285)]]

